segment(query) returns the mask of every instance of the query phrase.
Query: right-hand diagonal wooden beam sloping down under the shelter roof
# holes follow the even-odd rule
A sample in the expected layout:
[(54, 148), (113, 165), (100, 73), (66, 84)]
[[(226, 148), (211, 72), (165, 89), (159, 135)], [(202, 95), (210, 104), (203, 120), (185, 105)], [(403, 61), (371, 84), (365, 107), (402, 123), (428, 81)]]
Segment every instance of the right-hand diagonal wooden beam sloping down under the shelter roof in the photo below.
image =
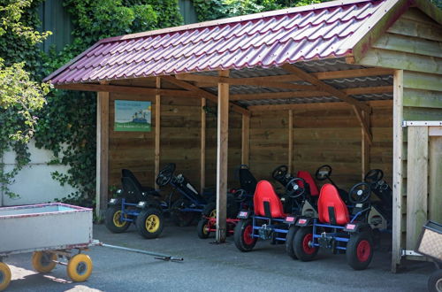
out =
[(324, 83), (323, 81), (318, 80), (315, 76), (302, 71), (300, 68), (298, 68), (294, 65), (290, 65), (290, 64), (282, 65), (282, 68), (284, 70), (286, 70), (286, 72), (288, 72), (288, 73), (293, 73), (293, 74), (300, 76), (300, 78), (303, 81), (308, 81), (312, 85), (316, 85), (316, 87), (319, 88), (320, 90), (323, 90), (325, 92), (329, 92), (329, 93), (331, 93), (332, 96), (336, 96), (340, 100), (347, 102), (348, 104), (353, 104), (355, 107), (357, 107), (363, 111), (370, 112), (370, 107), (367, 106), (366, 104), (362, 104), (357, 99), (355, 99), (351, 96), (347, 96), (346, 93), (340, 91), (339, 89), (333, 88), (332, 86), (328, 85), (327, 83)]

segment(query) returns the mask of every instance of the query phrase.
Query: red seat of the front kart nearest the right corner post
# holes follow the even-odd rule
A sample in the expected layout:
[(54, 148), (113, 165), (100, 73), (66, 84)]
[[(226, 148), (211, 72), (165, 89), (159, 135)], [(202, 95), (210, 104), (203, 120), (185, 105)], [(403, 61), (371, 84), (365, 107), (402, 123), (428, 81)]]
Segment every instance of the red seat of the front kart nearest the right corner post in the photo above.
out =
[(317, 202), (319, 221), (332, 223), (330, 209), (334, 211), (336, 224), (345, 225), (350, 221), (347, 205), (344, 204), (344, 201), (340, 198), (338, 189), (332, 184), (326, 183), (323, 188), (321, 188), (321, 194)]

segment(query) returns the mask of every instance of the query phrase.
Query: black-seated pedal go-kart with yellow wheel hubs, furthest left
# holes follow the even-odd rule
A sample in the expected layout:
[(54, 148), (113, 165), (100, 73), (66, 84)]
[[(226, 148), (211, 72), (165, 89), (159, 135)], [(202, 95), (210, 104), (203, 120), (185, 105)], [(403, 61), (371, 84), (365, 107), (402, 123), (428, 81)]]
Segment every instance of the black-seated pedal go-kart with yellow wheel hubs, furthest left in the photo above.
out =
[(131, 171), (123, 169), (121, 173), (122, 188), (108, 203), (106, 227), (110, 232), (122, 233), (134, 223), (143, 237), (158, 237), (163, 231), (167, 204), (154, 188), (142, 187)]

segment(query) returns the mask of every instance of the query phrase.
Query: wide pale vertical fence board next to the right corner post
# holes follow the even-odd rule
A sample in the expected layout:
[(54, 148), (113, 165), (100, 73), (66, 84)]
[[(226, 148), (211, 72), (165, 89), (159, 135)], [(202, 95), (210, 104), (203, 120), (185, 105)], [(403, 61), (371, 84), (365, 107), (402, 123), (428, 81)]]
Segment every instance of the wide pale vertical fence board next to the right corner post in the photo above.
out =
[(408, 127), (407, 165), (406, 245), (414, 250), (428, 218), (428, 127)]

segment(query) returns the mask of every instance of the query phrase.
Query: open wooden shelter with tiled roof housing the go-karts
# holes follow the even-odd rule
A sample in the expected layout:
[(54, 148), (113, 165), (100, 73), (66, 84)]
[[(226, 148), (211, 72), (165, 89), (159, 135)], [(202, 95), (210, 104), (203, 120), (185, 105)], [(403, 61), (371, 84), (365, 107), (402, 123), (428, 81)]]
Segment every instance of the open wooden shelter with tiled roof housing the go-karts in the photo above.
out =
[[(250, 164), (266, 178), (281, 163), (312, 171), (324, 161), (338, 165), (346, 187), (383, 168), (396, 271), (413, 257), (424, 221), (442, 221), (441, 24), (426, 0), (314, 4), (104, 39), (46, 81), (98, 92), (98, 212), (130, 163), (153, 183), (160, 160), (189, 158), (203, 188), (217, 158), (223, 242), (229, 165)], [(113, 133), (113, 101), (133, 98), (155, 104), (152, 134)], [(410, 120), (427, 122), (406, 132)]]

